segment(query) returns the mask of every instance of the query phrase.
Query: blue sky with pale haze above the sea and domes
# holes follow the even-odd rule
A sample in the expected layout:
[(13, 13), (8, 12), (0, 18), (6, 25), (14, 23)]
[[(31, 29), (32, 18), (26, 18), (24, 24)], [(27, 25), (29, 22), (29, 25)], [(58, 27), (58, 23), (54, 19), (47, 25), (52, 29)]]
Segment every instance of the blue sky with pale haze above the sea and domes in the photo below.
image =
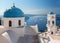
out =
[(0, 0), (0, 15), (15, 6), (25, 14), (47, 14), (50, 11), (60, 14), (60, 0)]

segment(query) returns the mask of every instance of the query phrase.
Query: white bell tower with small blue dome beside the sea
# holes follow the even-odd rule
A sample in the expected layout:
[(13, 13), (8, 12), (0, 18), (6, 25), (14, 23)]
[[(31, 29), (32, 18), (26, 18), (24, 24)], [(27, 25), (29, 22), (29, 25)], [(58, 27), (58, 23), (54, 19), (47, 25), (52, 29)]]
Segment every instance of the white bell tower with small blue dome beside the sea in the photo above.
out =
[(51, 34), (56, 32), (56, 14), (49, 12), (47, 15), (47, 29)]

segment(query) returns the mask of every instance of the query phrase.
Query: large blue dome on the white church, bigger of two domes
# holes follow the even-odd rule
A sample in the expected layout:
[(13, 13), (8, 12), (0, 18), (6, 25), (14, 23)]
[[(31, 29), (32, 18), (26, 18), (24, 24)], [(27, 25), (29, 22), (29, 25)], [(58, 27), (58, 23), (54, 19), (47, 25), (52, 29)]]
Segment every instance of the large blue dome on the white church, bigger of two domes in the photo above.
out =
[(21, 9), (13, 6), (13, 7), (11, 7), (11, 9), (6, 10), (4, 12), (4, 17), (6, 17), (6, 18), (24, 17), (24, 13), (22, 12)]

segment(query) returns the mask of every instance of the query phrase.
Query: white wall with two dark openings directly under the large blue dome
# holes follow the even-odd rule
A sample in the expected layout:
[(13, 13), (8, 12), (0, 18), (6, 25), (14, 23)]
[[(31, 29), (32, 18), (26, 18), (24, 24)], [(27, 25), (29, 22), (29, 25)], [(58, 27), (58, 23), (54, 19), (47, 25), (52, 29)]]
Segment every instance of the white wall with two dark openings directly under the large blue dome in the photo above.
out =
[(2, 18), (2, 25), (4, 27), (9, 27), (9, 21), (12, 21), (12, 27), (18, 27), (18, 20), (21, 20), (21, 26), (24, 26), (25, 18), (20, 17), (20, 18)]

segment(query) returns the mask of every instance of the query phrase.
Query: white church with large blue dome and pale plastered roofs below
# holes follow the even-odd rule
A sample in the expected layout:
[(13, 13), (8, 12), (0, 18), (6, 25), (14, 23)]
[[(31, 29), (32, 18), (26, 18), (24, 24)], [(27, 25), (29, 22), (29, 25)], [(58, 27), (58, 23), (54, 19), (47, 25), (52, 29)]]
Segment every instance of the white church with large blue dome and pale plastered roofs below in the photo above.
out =
[(0, 26), (0, 43), (33, 43), (37, 25), (27, 26), (24, 12), (13, 5), (4, 12)]

